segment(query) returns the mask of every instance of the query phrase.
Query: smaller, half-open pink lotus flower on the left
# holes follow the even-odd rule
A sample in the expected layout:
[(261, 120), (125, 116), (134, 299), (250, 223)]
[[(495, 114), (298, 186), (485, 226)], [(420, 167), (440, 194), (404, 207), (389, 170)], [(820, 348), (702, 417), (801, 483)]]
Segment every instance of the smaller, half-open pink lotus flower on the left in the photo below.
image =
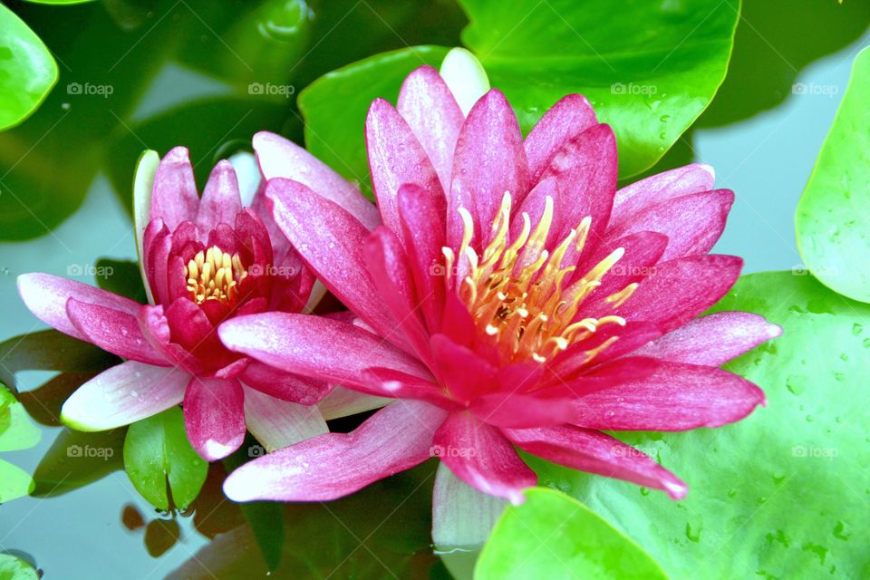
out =
[[(319, 189), (318, 176), (326, 172), (328, 186), (332, 172), (296, 150), (285, 174), (311, 178), (305, 182)], [(144, 195), (135, 200), (144, 208), (137, 234), (150, 304), (54, 275), (18, 279), (24, 303), (44, 323), (127, 359), (75, 391), (63, 405), (64, 422), (108, 430), (183, 401), (189, 440), (208, 460), (237, 449), (246, 423), (267, 449), (325, 432), (321, 413), (304, 405), (330, 391), (326, 382), (229, 351), (216, 332), (239, 315), (302, 311), (314, 276), (261, 211), (262, 194), (251, 208), (242, 206), (229, 161), (211, 172), (201, 199), (188, 150), (173, 149), (158, 161), (149, 151), (140, 162), (137, 192)], [(353, 209), (358, 198), (346, 207)], [(338, 400), (329, 416), (356, 410), (343, 409), (344, 403), (359, 406), (345, 395)]]

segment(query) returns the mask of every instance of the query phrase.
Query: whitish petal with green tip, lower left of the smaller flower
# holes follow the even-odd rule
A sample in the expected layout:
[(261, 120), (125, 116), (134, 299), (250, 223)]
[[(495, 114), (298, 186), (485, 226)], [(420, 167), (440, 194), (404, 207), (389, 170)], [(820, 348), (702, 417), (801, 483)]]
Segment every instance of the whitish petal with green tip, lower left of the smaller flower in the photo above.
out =
[(75, 430), (129, 425), (174, 407), (190, 381), (176, 368), (127, 361), (85, 382), (63, 403), (61, 420)]

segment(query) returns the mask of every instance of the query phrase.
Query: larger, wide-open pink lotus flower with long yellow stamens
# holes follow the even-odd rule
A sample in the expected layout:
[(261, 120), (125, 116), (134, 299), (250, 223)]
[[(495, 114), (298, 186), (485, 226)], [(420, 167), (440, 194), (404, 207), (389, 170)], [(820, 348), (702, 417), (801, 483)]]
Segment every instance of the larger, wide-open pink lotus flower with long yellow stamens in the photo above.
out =
[(717, 367), (778, 326), (696, 318), (742, 265), (708, 255), (732, 192), (703, 165), (617, 191), (614, 133), (584, 97), (557, 102), (524, 140), (501, 92), (466, 117), (425, 66), (397, 108), (372, 103), (366, 139), (381, 226), (294, 180), (266, 187), (278, 226), (358, 321), (254, 314), (219, 333), (286, 372), (399, 401), (237, 469), (227, 496), (339, 498), (435, 455), (518, 502), (536, 483), (519, 448), (681, 498), (679, 478), (603, 431), (718, 427), (764, 403)]

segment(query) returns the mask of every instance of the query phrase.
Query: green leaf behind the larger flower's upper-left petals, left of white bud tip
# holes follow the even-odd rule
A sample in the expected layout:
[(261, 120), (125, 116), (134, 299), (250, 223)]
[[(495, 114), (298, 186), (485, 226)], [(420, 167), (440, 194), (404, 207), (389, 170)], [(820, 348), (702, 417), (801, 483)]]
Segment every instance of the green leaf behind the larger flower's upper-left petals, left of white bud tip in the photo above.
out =
[(448, 49), (415, 46), (376, 54), (312, 82), (299, 95), (305, 145), (347, 179), (367, 181), (365, 115), (378, 97), (396, 102), (401, 82), (423, 64), (438, 68)]

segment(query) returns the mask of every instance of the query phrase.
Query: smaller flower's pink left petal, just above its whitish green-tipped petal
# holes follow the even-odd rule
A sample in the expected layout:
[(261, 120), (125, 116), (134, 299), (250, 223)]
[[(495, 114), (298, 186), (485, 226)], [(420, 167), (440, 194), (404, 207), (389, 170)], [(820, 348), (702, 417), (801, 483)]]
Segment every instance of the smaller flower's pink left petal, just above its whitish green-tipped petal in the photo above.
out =
[(102, 350), (134, 361), (169, 366), (166, 357), (150, 345), (139, 328), (136, 316), (106, 306), (70, 298), (66, 313), (86, 341)]

